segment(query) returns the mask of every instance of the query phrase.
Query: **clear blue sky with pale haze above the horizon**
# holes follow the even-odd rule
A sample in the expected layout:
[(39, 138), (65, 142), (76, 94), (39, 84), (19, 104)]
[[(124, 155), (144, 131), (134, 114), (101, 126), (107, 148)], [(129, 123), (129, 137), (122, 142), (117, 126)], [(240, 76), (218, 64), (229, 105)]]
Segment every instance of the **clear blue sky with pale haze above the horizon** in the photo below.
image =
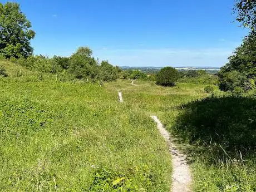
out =
[[(6, 1), (0, 1), (2, 3)], [(18, 0), (36, 54), (70, 56), (89, 46), (119, 66), (223, 66), (247, 30), (234, 0)]]

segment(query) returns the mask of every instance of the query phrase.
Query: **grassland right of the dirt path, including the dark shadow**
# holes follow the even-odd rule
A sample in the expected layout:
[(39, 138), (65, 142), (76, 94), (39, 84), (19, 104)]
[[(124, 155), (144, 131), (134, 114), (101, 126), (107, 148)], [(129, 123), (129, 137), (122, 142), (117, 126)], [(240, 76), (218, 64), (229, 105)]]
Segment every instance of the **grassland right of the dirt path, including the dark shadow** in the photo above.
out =
[[(193, 191), (256, 191), (256, 100), (230, 97), (214, 86), (177, 83), (161, 87), (147, 81), (107, 83), (107, 90), (123, 91), (131, 109), (157, 115), (188, 152)], [(213, 85), (212, 85), (213, 86)]]

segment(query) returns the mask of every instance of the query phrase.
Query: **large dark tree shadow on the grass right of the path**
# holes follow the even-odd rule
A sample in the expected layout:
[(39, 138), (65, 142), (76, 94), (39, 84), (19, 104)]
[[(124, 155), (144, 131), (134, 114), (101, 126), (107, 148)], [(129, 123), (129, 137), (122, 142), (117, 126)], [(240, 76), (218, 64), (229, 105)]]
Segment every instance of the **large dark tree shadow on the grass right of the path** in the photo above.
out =
[(256, 151), (255, 99), (208, 97), (182, 108), (173, 126), (181, 139), (203, 148), (210, 146), (211, 155), (217, 159), (239, 159)]

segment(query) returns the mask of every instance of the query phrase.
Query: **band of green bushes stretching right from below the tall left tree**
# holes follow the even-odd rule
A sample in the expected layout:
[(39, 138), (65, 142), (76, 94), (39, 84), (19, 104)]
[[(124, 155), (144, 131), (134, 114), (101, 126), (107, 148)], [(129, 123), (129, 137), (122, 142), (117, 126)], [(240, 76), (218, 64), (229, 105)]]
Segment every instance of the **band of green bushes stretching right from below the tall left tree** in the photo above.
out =
[[(60, 81), (73, 80), (73, 77), (94, 82), (97, 80), (115, 81), (119, 77), (127, 78), (127, 74), (123, 74), (120, 67), (112, 66), (108, 61), (102, 61), (99, 65), (99, 61), (92, 57), (92, 50), (88, 47), (78, 48), (71, 57), (53, 56), (49, 58), (37, 55), (11, 59), (31, 71), (56, 74), (57, 80)], [(63, 70), (65, 70), (64, 73)], [(140, 77), (143, 75), (145, 78), (147, 77), (144, 73), (140, 74)]]

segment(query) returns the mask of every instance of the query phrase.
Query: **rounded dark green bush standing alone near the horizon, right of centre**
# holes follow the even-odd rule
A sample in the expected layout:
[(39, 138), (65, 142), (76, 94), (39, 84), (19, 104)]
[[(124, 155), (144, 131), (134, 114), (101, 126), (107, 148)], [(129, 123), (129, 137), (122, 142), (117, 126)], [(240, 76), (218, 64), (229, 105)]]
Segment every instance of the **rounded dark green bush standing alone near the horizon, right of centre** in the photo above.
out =
[(174, 86), (178, 78), (178, 70), (175, 70), (173, 67), (164, 67), (161, 68), (159, 73), (156, 75), (156, 84), (163, 86)]

